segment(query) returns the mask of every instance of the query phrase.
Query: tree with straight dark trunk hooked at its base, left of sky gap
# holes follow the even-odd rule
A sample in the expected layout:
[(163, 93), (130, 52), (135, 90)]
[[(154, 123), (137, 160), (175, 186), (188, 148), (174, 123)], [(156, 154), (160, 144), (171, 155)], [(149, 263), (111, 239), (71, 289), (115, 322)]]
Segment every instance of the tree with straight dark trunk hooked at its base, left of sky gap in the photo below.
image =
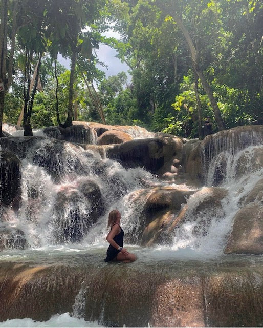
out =
[(48, 21), (47, 35), (51, 40), (50, 52), (56, 60), (58, 51), (63, 56), (71, 58), (71, 70), (69, 81), (69, 103), (68, 116), (64, 124), (58, 123), (62, 127), (72, 125), (73, 118), (73, 85), (77, 56), (80, 54), (85, 58), (91, 58), (93, 46), (97, 41), (90, 32), (85, 32), (87, 25), (91, 25), (99, 15), (104, 0), (63, 0), (53, 2), (46, 12)]

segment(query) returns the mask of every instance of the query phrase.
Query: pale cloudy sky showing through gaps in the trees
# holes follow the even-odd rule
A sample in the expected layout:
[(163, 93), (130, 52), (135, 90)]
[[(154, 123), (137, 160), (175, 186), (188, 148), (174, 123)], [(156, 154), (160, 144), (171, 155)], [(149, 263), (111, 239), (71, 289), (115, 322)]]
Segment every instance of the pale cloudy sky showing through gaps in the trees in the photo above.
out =
[[(119, 38), (119, 34), (114, 31), (108, 31), (103, 33), (103, 35), (107, 37), (115, 37)], [(105, 72), (106, 76), (117, 75), (119, 72), (126, 72), (129, 77), (127, 71), (128, 66), (125, 63), (121, 63), (120, 59), (116, 58), (116, 50), (112, 49), (107, 45), (100, 44), (99, 49), (96, 49), (96, 54), (98, 56), (99, 61), (103, 61), (107, 67), (103, 67), (101, 65), (97, 65), (97, 67)], [(64, 65), (66, 68), (70, 68), (70, 60), (68, 58), (63, 58), (60, 54), (58, 55), (58, 61), (60, 64)]]

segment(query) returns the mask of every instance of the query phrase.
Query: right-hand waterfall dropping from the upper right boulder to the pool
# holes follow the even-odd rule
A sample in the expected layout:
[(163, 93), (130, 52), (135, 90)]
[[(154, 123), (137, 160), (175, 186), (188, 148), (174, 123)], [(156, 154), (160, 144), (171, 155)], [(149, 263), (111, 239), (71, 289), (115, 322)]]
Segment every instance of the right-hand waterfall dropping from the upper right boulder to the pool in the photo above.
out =
[(211, 188), (203, 187), (189, 198), (184, 223), (174, 234), (173, 250), (189, 249), (209, 256), (223, 254), (234, 216), (263, 177), (262, 141), (259, 129), (222, 131), (203, 141), (206, 186), (220, 186), (227, 195), (218, 198), (217, 206), (211, 202), (212, 208), (202, 208), (213, 192)]

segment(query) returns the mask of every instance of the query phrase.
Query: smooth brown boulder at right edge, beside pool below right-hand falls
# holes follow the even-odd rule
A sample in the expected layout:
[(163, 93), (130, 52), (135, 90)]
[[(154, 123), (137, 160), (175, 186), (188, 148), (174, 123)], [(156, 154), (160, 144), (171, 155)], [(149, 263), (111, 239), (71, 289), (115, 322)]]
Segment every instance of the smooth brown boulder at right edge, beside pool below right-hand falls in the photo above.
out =
[(245, 199), (244, 206), (234, 216), (234, 224), (225, 253), (263, 253), (263, 179)]

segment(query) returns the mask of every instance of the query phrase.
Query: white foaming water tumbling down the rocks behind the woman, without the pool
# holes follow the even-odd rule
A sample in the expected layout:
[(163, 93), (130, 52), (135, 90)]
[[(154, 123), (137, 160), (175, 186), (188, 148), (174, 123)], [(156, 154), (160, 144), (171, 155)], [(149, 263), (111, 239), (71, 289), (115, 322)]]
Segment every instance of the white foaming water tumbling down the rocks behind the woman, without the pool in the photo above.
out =
[[(106, 247), (107, 213), (116, 208), (122, 213), (124, 230), (127, 233), (133, 233), (134, 242), (138, 243), (137, 232), (140, 225), (144, 224), (141, 213), (149, 195), (150, 184), (157, 183), (155, 178), (141, 168), (126, 170), (119, 163), (102, 158), (97, 152), (84, 151), (79, 146), (70, 147), (70, 144), (65, 144), (64, 152), (58, 153), (53, 163), (55, 172), (61, 172), (62, 175), (59, 182), (56, 182), (44, 168), (34, 163), (36, 154), (39, 156), (39, 161), (50, 156), (47, 151), (52, 147), (50, 140), (41, 139), (28, 151), (26, 159), (23, 160), (21, 207), (18, 213), (6, 209), (2, 213), (6, 219), (2, 219), (0, 227), (14, 231), (14, 236), (19, 235), (17, 230), (23, 231), (31, 249), (49, 250), (52, 248), (53, 250), (55, 248), (59, 250), (62, 247), (62, 249), (81, 250), (99, 245)], [(191, 254), (193, 257), (210, 257), (223, 254), (228, 234), (231, 231), (232, 219), (238, 211), (240, 200), (263, 176), (263, 169), (260, 165), (252, 167), (252, 162), (256, 162), (255, 152), (260, 149), (262, 146), (249, 146), (235, 152), (232, 149), (218, 151), (210, 161), (206, 185), (212, 185), (215, 171), (218, 171), (218, 163), (225, 161), (221, 187), (228, 190), (230, 196), (222, 200), (222, 209), (212, 214), (209, 211), (202, 211), (196, 215), (196, 208), (209, 196), (207, 192), (202, 193), (201, 189), (200, 193), (189, 198), (187, 218), (185, 223), (176, 230), (172, 246), (158, 245), (156, 250), (168, 252), (169, 256), (171, 256), (171, 250), (173, 255), (179, 256)], [(87, 232), (83, 222), (91, 209), (83, 201), (83, 194), (79, 189), (83, 180), (91, 180), (98, 185), (105, 207), (104, 214)], [(31, 193), (35, 191), (37, 191), (37, 196), (32, 199)], [(65, 195), (73, 194), (74, 200), (64, 203), (63, 209), (58, 213), (54, 211), (54, 205), (57, 195), (61, 192)], [(57, 234), (62, 231), (59, 224), (61, 221), (63, 223), (63, 220), (65, 224), (71, 224), (68, 220), (70, 220), (72, 209), (83, 218), (80, 222), (83, 239), (79, 243), (67, 244), (67, 240), (62, 237), (58, 239), (57, 245)], [(60, 218), (56, 223), (58, 215)], [(61, 240), (65, 240), (66, 244), (60, 245)], [(16, 253), (16, 251), (7, 250), (3, 254), (6, 252)]]

